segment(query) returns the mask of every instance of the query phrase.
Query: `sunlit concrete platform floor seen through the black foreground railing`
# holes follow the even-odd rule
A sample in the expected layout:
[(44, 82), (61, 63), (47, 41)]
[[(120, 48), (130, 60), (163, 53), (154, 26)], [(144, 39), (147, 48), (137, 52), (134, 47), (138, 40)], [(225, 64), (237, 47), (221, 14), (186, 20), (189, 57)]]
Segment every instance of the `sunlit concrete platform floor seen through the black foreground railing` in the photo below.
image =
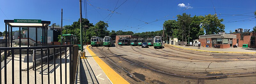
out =
[[(27, 54), (21, 55), (21, 66), (20, 66), (20, 56), (14, 55), (14, 60), (12, 57), (7, 57), (7, 84), (12, 84), (12, 80), (14, 80), (14, 84), (20, 83), (20, 67), (21, 67), (21, 83), (22, 84), (28, 84), (27, 83), (27, 71), (24, 71), (24, 69), (27, 69), (27, 62), (29, 62), (29, 66), (33, 65), (32, 61), (32, 55), (29, 54), (29, 60), (27, 60)], [(62, 61), (60, 64), (60, 60)], [(12, 61), (14, 61), (14, 79), (12, 79)], [(60, 81), (62, 83), (65, 83), (65, 55), (61, 56), (59, 58), (56, 58), (56, 84), (60, 84)], [(60, 65), (62, 68), (60, 69)], [(1, 62), (1, 72), (2, 72), (2, 84), (4, 84), (4, 61)], [(60, 70), (62, 71), (62, 80), (60, 80)], [(35, 77), (36, 74), (36, 77)], [(42, 81), (42, 74), (43, 74), (43, 81)], [(51, 61), (49, 63), (49, 73), (48, 73), (48, 65), (47, 63), (43, 64), (43, 73), (41, 72), (41, 65), (36, 67), (36, 73), (33, 69), (29, 70), (29, 82), (30, 84), (34, 84), (35, 80), (37, 84), (45, 83), (48, 84), (48, 74), (50, 74), (50, 84), (54, 83), (54, 62)], [(69, 51), (67, 51), (67, 83), (69, 83)]]

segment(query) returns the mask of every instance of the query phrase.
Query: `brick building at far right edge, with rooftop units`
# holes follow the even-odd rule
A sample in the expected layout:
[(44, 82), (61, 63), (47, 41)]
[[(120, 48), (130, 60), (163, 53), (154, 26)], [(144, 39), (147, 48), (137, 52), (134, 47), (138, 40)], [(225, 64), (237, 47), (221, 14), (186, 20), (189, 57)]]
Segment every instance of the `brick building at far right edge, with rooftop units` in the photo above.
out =
[(249, 48), (256, 48), (256, 32), (230, 33), (236, 35), (238, 47), (248, 44)]

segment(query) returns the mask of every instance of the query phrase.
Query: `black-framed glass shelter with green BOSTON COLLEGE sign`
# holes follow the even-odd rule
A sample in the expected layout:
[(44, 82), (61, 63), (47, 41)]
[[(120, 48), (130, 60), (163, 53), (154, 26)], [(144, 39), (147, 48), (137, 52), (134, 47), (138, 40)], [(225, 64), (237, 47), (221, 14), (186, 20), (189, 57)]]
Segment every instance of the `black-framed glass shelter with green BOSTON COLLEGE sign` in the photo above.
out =
[[(41, 44), (47, 44), (48, 29), (47, 27), (51, 24), (51, 21), (42, 21), (41, 19), (14, 19), (4, 20), (5, 23), (5, 47), (13, 47), (19, 45), (27, 45), (28, 47), (34, 46), (38, 42)], [(17, 31), (13, 31), (13, 28), (18, 28)], [(33, 28), (33, 29), (32, 29)], [(32, 29), (33, 31), (29, 30)], [(38, 29), (42, 31), (42, 35), (38, 34)], [(26, 34), (25, 34), (26, 33)], [(25, 34), (25, 35), (24, 35)], [(29, 35), (33, 34), (33, 35)], [(35, 36), (34, 36), (35, 35)], [(35, 38), (30, 38), (34, 36)], [(41, 41), (38, 41), (38, 37)], [(22, 40), (22, 42), (21, 42)], [(12, 42), (16, 41), (16, 42)]]

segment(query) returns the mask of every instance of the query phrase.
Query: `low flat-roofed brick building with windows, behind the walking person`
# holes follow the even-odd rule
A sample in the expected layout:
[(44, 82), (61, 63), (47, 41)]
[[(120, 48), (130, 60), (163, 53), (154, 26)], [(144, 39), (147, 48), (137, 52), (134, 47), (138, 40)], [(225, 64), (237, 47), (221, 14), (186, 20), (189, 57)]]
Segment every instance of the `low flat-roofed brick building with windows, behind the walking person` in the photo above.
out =
[(215, 45), (219, 45), (221, 49), (225, 49), (236, 45), (236, 35), (233, 34), (200, 35), (198, 40), (203, 47), (213, 48)]

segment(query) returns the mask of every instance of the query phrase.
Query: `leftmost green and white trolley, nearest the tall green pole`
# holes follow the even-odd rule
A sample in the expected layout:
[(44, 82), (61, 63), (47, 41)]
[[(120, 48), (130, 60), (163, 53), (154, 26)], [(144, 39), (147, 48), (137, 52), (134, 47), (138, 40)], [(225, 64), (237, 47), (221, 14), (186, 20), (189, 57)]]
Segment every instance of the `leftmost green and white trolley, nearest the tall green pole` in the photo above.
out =
[(92, 36), (91, 38), (91, 46), (101, 46), (102, 45), (102, 38), (98, 37), (98, 36)]

